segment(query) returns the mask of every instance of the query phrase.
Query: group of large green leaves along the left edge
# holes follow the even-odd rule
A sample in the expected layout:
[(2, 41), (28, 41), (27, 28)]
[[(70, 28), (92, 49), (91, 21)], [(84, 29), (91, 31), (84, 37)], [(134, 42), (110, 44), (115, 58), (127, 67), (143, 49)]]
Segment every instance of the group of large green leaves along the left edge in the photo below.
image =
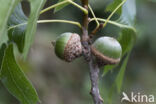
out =
[[(43, 7), (45, 0), (30, 1), (31, 14), (30, 18), (28, 19), (28, 23), (27, 17), (22, 11), (21, 4), (18, 4), (18, 2), (18, 0), (5, 0), (5, 2), (4, 0), (0, 1), (0, 4), (4, 4), (0, 6), (0, 13), (2, 14), (2, 18), (0, 19), (0, 43), (6, 43), (8, 40), (8, 23), (8, 43), (14, 42), (18, 46), (19, 51), (21, 53), (24, 52), (26, 57), (30, 45), (32, 44), (34, 33), (36, 31), (36, 21), (38, 20), (40, 9)], [(16, 5), (17, 7), (14, 10)], [(12, 13), (13, 10), (14, 12)], [(11, 13), (12, 15), (10, 16)], [(15, 25), (20, 25), (23, 23), (26, 23), (27, 25), (24, 24), (12, 28)], [(4, 51), (4, 49), (5, 46), (2, 45), (0, 49), (0, 77), (2, 83), (8, 89), (8, 91), (14, 95), (22, 104), (36, 104), (37, 101), (39, 101), (37, 93), (19, 66), (16, 64), (13, 54), (13, 45), (9, 45), (6, 51)]]

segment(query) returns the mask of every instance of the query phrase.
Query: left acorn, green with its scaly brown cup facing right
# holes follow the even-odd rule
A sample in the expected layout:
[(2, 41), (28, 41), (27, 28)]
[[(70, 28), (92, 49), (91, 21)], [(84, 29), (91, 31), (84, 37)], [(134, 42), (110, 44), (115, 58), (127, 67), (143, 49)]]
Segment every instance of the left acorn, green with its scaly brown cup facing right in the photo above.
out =
[(80, 36), (70, 32), (61, 34), (55, 42), (55, 54), (67, 62), (71, 62), (81, 56), (82, 45)]

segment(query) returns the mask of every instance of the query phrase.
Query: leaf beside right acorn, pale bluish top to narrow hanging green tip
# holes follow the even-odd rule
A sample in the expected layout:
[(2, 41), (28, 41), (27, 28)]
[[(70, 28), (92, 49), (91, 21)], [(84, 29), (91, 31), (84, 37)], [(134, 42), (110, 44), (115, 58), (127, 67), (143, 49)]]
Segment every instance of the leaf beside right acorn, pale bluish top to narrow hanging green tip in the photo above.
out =
[(116, 77), (116, 86), (118, 92), (120, 92), (124, 72), (126, 70), (126, 65), (128, 62), (130, 51), (132, 50), (135, 40), (136, 40), (136, 30), (134, 29), (135, 25), (135, 16), (136, 16), (136, 4), (135, 0), (127, 0), (126, 3), (122, 7), (122, 14), (120, 19), (118, 20), (122, 24), (126, 24), (130, 27), (121, 28), (121, 34), (118, 37), (118, 40), (122, 47), (122, 57), (128, 54), (123, 61), (120, 71)]

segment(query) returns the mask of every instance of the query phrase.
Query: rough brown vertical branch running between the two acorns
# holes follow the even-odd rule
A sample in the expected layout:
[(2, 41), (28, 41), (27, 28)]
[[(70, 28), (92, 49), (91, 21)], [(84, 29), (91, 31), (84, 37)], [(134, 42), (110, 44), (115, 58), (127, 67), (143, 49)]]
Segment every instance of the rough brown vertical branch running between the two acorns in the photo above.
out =
[[(88, 10), (88, 0), (81, 0), (82, 6)], [(93, 58), (90, 49), (90, 37), (88, 35), (88, 14), (83, 14), (83, 26), (82, 26), (82, 45), (83, 45), (83, 56), (89, 63), (90, 68), (90, 80), (91, 80), (91, 91), (94, 104), (103, 104), (103, 99), (100, 96), (98, 88), (98, 77), (99, 68), (97, 63), (93, 63)], [(101, 25), (95, 29), (95, 33), (101, 28)], [(93, 31), (94, 32), (94, 31)], [(94, 33), (93, 33), (94, 34)]]

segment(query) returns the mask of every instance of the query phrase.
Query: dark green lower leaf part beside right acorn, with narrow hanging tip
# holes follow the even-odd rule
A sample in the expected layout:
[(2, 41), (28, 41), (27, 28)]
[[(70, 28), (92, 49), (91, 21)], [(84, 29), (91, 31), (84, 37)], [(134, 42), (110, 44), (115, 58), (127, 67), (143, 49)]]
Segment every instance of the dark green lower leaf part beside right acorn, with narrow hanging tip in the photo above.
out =
[(130, 56), (130, 51), (133, 48), (133, 45), (136, 40), (136, 32), (133, 29), (122, 29), (121, 34), (119, 36), (119, 42), (122, 45), (122, 56), (124, 57), (125, 55), (126, 58), (123, 60), (123, 63), (121, 64), (119, 73), (116, 77), (116, 85), (117, 85), (117, 90), (120, 92), (121, 87), (122, 87), (122, 82), (124, 78), (124, 72), (126, 70), (126, 66), (128, 63), (128, 58)]

